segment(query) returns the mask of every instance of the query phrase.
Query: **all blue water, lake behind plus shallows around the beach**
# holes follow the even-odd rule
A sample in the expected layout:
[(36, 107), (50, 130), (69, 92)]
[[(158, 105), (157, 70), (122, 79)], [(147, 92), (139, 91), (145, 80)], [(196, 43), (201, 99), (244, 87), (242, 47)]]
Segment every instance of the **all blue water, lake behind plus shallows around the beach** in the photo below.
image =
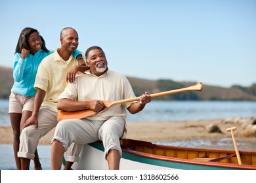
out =
[[(0, 100), (0, 126), (10, 126), (8, 114), (9, 101)], [(127, 123), (159, 122), (179, 120), (204, 120), (234, 117), (256, 116), (255, 101), (152, 101), (138, 114), (127, 114)], [(197, 147), (198, 144), (208, 146), (208, 141), (173, 141), (162, 142), (174, 146)], [(210, 146), (226, 146), (232, 139), (223, 139)], [(239, 145), (239, 144), (238, 144)], [(244, 144), (246, 145), (246, 144)], [(51, 146), (37, 148), (43, 169), (51, 167)], [(0, 169), (15, 169), (15, 161), (11, 144), (0, 144)], [(31, 161), (30, 169), (33, 169)]]

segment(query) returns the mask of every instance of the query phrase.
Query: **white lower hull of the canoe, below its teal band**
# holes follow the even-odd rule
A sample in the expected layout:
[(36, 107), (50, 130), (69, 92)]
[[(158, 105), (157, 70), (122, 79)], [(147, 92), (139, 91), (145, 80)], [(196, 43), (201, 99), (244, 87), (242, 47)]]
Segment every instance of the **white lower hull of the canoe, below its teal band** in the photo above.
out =
[[(72, 165), (74, 170), (107, 170), (108, 163), (104, 158), (104, 152), (84, 144), (80, 153), (80, 159), (78, 163)], [(120, 170), (166, 170), (171, 169), (169, 167), (161, 167), (156, 165), (150, 165), (147, 163), (140, 163), (129, 159), (121, 158)]]

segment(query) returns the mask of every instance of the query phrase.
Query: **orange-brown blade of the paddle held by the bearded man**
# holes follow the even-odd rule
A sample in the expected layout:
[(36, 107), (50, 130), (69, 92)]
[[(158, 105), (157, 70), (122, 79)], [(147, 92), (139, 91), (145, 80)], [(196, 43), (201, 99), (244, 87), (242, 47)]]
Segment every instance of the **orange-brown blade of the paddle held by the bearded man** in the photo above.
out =
[[(100, 110), (102, 112), (103, 110), (106, 110), (106, 108), (111, 107), (112, 105), (115, 105), (115, 102), (113, 101), (103, 101), (104, 102), (104, 108)], [(58, 110), (57, 114), (57, 120), (60, 122), (61, 120), (68, 120), (68, 119), (82, 119), (87, 118), (89, 116), (93, 116), (94, 114), (97, 114), (95, 110), (77, 110), (72, 112), (67, 112), (64, 110)]]

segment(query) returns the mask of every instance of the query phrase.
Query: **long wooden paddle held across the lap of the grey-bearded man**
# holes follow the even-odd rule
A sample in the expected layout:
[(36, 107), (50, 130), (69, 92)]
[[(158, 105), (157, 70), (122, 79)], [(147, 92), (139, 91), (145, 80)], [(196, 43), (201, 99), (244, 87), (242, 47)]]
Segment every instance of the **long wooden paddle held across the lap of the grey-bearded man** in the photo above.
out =
[[(202, 89), (203, 89), (203, 84), (201, 82), (199, 82), (198, 84), (195, 84), (193, 86), (189, 86), (186, 88), (170, 90), (167, 92), (154, 93), (154, 94), (151, 94), (150, 97), (154, 98), (154, 97), (160, 97), (163, 95), (171, 95), (171, 94), (175, 94), (175, 93), (188, 92), (188, 91), (193, 91), (193, 90), (202, 91)], [(135, 98), (131, 98), (131, 99), (123, 99), (120, 101), (103, 101), (105, 107), (102, 110), (106, 110), (106, 108), (112, 107), (117, 104), (129, 103), (129, 102), (139, 101), (139, 100), (140, 100), (140, 97), (135, 97)], [(100, 110), (100, 112), (102, 110)], [(95, 110), (90, 110), (90, 109), (89, 110), (77, 110), (77, 111), (72, 111), (72, 112), (58, 110), (57, 120), (60, 122), (61, 120), (67, 120), (67, 119), (81, 119), (81, 118), (86, 118), (86, 117), (92, 116), (93, 114), (96, 114), (96, 113), (98, 113), (98, 112), (96, 112)]]

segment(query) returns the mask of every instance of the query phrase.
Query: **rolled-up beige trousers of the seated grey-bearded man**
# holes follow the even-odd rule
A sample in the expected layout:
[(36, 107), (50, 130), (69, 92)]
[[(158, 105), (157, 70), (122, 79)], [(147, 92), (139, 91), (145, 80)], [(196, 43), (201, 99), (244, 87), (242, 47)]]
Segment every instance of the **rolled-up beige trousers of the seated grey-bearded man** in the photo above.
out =
[(56, 126), (53, 141), (58, 140), (63, 144), (66, 161), (79, 161), (81, 145), (98, 140), (103, 142), (105, 157), (112, 149), (118, 150), (121, 156), (119, 139), (123, 136), (124, 128), (125, 120), (117, 116), (106, 121), (63, 120)]

